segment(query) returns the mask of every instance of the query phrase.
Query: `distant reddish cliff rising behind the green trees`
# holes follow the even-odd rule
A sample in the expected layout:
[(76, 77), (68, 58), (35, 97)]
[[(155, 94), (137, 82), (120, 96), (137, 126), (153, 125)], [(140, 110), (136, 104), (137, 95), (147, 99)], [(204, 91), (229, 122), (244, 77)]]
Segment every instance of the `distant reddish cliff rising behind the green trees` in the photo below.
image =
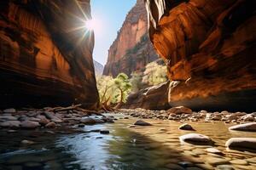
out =
[(149, 62), (158, 59), (148, 38), (147, 11), (143, 0), (127, 14), (118, 37), (108, 50), (108, 62), (104, 75), (116, 77), (119, 72), (130, 75), (132, 71), (144, 68)]

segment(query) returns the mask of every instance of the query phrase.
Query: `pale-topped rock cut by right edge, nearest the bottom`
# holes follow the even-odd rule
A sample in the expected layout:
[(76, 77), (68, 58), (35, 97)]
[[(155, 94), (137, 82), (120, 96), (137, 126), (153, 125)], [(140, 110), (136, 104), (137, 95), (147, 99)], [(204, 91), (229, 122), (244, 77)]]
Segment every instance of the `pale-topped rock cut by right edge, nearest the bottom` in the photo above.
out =
[(256, 152), (256, 138), (231, 138), (225, 146), (232, 150)]

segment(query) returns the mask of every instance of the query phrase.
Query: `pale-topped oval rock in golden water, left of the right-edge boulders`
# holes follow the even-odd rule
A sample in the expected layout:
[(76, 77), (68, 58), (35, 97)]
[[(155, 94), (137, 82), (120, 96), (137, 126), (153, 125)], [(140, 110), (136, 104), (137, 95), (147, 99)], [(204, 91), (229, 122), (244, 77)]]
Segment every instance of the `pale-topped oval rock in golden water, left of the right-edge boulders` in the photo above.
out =
[(211, 138), (199, 134), (199, 133), (189, 133), (189, 134), (184, 134), (183, 136), (179, 137), (181, 142), (187, 142), (190, 144), (213, 144), (214, 142), (212, 141)]

